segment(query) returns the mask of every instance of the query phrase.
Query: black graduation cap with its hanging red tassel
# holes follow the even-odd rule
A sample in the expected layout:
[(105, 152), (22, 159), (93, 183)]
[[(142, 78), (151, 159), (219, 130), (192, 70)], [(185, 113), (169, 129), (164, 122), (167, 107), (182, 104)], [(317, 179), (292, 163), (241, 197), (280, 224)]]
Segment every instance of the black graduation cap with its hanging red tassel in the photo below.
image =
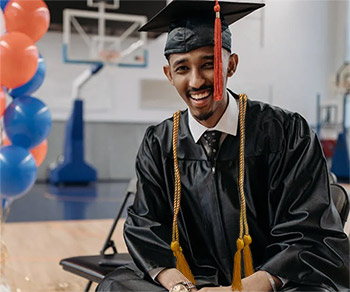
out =
[(166, 56), (214, 46), (214, 98), (220, 100), (223, 93), (221, 48), (231, 51), (228, 26), (264, 5), (217, 0), (215, 3), (213, 0), (173, 0), (140, 31), (168, 32), (164, 49)]

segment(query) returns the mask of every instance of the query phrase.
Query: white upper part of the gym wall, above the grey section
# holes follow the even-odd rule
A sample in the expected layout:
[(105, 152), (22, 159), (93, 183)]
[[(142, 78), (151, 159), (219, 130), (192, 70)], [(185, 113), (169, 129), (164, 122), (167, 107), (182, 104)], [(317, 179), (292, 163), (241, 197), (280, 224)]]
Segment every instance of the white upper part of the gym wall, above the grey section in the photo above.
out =
[[(231, 27), (233, 51), (240, 57), (229, 81), (236, 92), (272, 102), (303, 114), (312, 124), (316, 94), (331, 94), (331, 79), (345, 52), (343, 23), (348, 1), (267, 0), (256, 12)], [(345, 9), (346, 10), (346, 9)], [(145, 69), (104, 68), (86, 88), (86, 118), (90, 121), (158, 122), (177, 108), (141, 107), (141, 80), (163, 79), (165, 36), (149, 44)], [(263, 45), (262, 45), (263, 42)], [(71, 106), (71, 84), (87, 65), (63, 64), (61, 35), (47, 33), (38, 43), (47, 62), (47, 77), (35, 94), (50, 106), (56, 120)], [(173, 90), (173, 89), (171, 89)], [(167, 92), (159, 92), (166, 95)], [(180, 100), (180, 98), (179, 98)], [(179, 102), (179, 106), (183, 104)]]

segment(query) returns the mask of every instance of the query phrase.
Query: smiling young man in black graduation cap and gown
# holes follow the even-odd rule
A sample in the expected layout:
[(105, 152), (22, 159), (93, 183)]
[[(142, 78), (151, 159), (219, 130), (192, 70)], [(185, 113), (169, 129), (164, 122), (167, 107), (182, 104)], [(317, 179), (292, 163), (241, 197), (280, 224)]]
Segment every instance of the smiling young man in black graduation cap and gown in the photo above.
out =
[(226, 89), (238, 65), (228, 25), (262, 5), (223, 2), (221, 15), (213, 6), (174, 0), (144, 26), (168, 31), (164, 73), (188, 109), (147, 130), (124, 230), (135, 265), (97, 290), (348, 290), (349, 241), (314, 132), (296, 113)]

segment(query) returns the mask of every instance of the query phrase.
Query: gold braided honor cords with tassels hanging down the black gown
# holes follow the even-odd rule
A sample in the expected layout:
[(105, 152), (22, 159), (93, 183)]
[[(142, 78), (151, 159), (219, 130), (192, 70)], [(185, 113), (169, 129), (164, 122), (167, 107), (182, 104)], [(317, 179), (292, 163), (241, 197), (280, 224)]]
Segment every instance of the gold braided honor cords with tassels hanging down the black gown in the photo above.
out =
[[(232, 281), (232, 290), (241, 291), (241, 253), (243, 250), (244, 258), (244, 274), (245, 277), (250, 276), (254, 273), (252, 264), (252, 255), (250, 252), (249, 245), (252, 239), (249, 235), (247, 214), (246, 214), (246, 203), (244, 195), (244, 142), (245, 142), (245, 113), (247, 108), (247, 96), (245, 94), (239, 95), (239, 125), (240, 125), (240, 147), (239, 147), (239, 195), (241, 201), (240, 209), (240, 231), (239, 238), (237, 239), (237, 251), (234, 258), (234, 272)], [(171, 250), (176, 257), (176, 268), (192, 283), (196, 284), (191, 269), (185, 259), (182, 252), (179, 241), (179, 228), (177, 223), (177, 216), (180, 211), (181, 201), (181, 178), (177, 160), (177, 143), (179, 133), (179, 119), (180, 111), (177, 111), (173, 115), (173, 156), (174, 156), (174, 173), (175, 173), (175, 192), (174, 192), (174, 217), (173, 217), (173, 229), (172, 229), (172, 242)], [(244, 234), (244, 236), (243, 236)]]

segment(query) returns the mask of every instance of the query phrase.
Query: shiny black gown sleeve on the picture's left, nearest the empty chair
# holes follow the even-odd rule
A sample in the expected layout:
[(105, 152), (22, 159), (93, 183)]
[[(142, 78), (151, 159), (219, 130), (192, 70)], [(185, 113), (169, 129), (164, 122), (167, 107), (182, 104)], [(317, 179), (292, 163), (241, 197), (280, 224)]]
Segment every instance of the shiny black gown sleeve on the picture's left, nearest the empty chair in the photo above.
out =
[(170, 249), (172, 207), (159, 145), (154, 127), (148, 128), (136, 158), (137, 193), (124, 225), (129, 253), (146, 274), (159, 267), (176, 267)]

